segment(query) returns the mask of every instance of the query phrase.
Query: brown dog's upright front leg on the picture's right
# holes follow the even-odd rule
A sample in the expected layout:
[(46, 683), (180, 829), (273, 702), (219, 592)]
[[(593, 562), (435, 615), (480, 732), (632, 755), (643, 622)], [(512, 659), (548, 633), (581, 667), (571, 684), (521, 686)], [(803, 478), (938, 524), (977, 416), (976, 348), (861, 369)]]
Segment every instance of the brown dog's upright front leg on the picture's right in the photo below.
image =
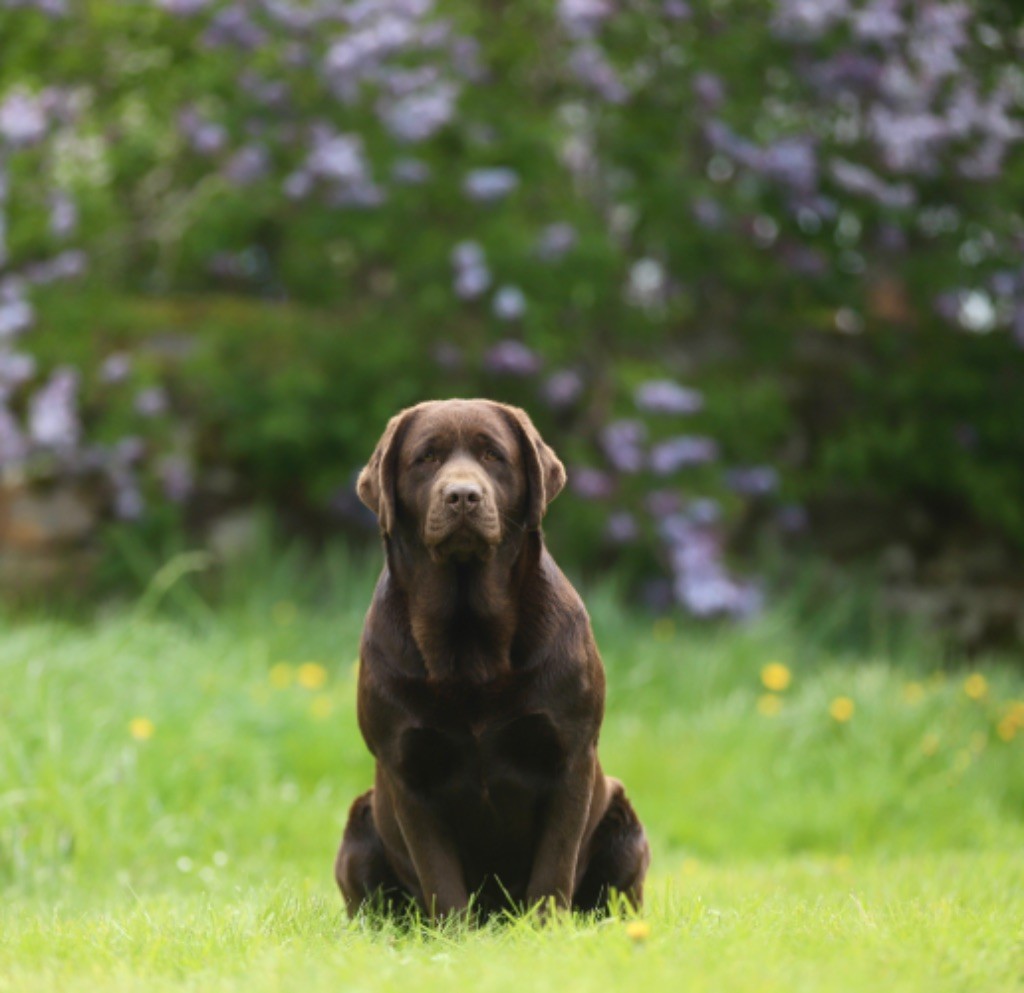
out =
[(597, 758), (587, 747), (571, 761), (545, 815), (540, 845), (526, 888), (526, 905), (547, 903), (566, 910), (572, 905), (577, 863), (594, 794)]

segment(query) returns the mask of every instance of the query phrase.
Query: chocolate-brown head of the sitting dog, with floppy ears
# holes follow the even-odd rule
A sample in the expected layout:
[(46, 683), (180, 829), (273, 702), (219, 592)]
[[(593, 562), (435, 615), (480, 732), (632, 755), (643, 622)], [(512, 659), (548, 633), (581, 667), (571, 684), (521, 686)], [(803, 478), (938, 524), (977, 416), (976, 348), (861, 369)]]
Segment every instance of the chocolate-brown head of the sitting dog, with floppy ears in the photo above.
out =
[(381, 530), (415, 534), (435, 561), (488, 558), (511, 530), (536, 530), (565, 470), (525, 412), (493, 400), (432, 400), (391, 418), (359, 474)]

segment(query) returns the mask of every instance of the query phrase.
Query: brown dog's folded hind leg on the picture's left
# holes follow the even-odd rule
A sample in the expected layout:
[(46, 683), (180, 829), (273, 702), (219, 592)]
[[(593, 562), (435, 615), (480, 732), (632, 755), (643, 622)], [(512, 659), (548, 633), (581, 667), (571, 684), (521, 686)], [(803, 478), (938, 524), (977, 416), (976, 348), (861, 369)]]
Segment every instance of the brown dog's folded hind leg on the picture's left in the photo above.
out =
[(361, 907), (395, 909), (413, 899), (387, 860), (374, 823), (373, 793), (369, 789), (352, 804), (334, 863), (334, 877), (350, 916)]

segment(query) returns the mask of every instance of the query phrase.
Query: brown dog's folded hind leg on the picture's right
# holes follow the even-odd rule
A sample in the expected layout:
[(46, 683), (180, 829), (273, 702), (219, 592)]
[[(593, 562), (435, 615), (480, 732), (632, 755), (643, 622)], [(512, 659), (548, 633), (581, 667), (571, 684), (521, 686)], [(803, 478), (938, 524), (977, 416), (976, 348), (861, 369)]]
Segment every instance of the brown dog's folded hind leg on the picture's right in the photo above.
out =
[(591, 837), (587, 867), (572, 895), (573, 910), (607, 910), (613, 892), (637, 909), (643, 903), (650, 848), (623, 784), (610, 777), (607, 782), (608, 808)]

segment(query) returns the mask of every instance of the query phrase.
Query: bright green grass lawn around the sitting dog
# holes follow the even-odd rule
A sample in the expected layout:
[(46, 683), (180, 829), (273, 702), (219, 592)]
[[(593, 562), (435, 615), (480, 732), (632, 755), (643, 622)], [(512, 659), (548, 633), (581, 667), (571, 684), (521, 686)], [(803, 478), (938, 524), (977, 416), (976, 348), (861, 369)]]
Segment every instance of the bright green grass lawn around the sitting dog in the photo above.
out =
[[(0, 621), (3, 993), (1024, 989), (1020, 668), (986, 662), (972, 696), (922, 636), (844, 652), (842, 604), (714, 630), (594, 591), (602, 758), (654, 853), (649, 937), (372, 930), (331, 878), (371, 776), (372, 573), (266, 557), (213, 607), (178, 571), (88, 622)], [(777, 714), (770, 661), (793, 677)]]

